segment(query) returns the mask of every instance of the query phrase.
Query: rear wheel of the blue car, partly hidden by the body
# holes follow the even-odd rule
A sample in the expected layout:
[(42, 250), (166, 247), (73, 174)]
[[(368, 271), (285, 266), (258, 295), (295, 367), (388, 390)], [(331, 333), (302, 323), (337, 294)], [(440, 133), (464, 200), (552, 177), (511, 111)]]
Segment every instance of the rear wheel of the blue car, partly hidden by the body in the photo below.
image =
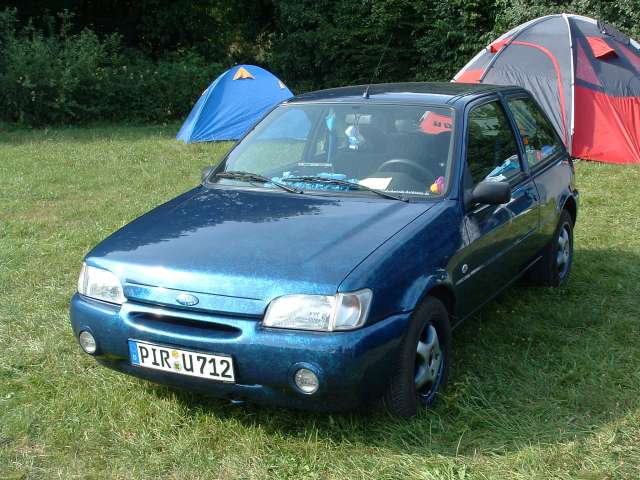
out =
[(545, 247), (542, 258), (527, 275), (534, 285), (559, 287), (567, 281), (573, 263), (573, 220), (562, 210), (558, 226), (551, 242)]

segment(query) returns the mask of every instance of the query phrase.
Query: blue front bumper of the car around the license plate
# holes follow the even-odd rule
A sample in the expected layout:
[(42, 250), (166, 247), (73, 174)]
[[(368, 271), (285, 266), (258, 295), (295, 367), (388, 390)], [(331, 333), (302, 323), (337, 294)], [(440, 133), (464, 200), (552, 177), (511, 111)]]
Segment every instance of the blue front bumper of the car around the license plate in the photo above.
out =
[[(380, 396), (410, 313), (349, 332), (305, 332), (263, 328), (255, 318), (214, 315), (136, 302), (111, 305), (75, 294), (71, 324), (78, 337), (88, 330), (95, 357), (115, 370), (230, 400), (315, 410), (349, 409)], [(128, 339), (233, 357), (236, 382), (226, 384), (134, 367)], [(293, 382), (300, 367), (315, 371), (313, 395)]]

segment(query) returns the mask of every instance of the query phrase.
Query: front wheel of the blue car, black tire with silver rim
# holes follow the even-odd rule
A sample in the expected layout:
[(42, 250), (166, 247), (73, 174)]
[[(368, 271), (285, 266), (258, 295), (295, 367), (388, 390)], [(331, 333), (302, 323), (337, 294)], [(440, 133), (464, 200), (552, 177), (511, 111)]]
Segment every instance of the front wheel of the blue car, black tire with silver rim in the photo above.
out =
[(451, 326), (440, 300), (427, 297), (414, 311), (395, 363), (384, 404), (392, 415), (409, 418), (433, 404), (449, 376)]

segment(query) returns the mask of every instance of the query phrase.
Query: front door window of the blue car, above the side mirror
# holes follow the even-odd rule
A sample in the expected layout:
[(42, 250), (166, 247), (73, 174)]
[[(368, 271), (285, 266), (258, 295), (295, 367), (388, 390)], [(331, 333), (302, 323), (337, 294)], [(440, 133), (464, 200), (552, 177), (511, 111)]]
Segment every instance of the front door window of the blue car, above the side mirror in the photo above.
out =
[(467, 170), (473, 185), (509, 181), (522, 171), (513, 131), (498, 101), (469, 113)]

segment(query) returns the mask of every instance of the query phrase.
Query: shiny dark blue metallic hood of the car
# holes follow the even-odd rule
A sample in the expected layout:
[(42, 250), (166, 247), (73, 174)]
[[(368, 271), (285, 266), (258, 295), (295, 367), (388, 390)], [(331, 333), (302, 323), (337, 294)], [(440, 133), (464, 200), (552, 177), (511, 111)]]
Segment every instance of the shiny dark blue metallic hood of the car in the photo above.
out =
[(191, 308), (262, 315), (284, 294), (334, 294), (431, 205), (199, 187), (121, 228), (86, 262), (115, 273), (129, 299), (179, 307), (189, 292), (199, 300)]

